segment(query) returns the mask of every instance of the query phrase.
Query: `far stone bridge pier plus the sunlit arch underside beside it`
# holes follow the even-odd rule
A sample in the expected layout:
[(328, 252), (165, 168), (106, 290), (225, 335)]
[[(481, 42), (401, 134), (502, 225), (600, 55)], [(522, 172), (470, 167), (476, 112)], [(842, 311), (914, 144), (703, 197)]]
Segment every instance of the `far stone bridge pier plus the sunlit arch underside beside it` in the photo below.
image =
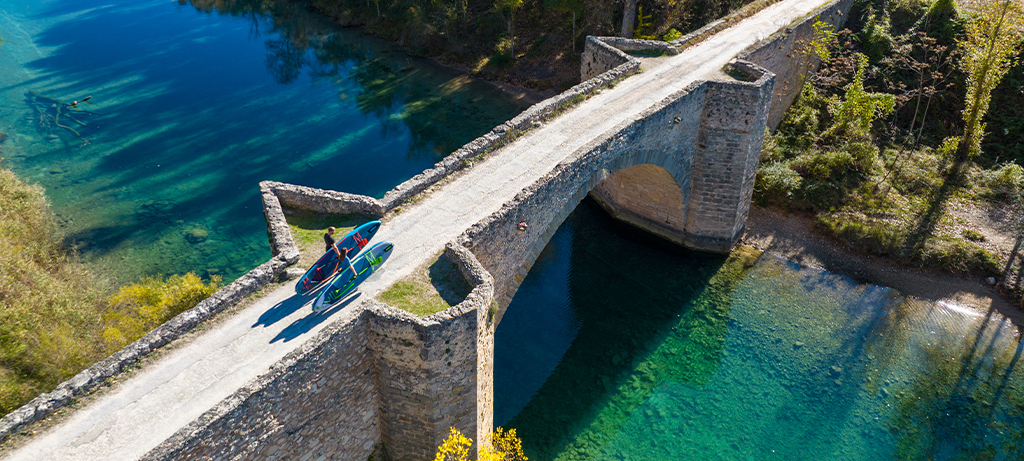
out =
[[(625, 168), (590, 195), (613, 217), (684, 247), (728, 253), (743, 234), (771, 102), (771, 78), (738, 61), (733, 74), (745, 81), (710, 81), (702, 91), (695, 130), (672, 134), (680, 117), (645, 130), (635, 149), (648, 151), (670, 136), (677, 145), (663, 155), (680, 159), (672, 174), (652, 164)], [(699, 109), (699, 108), (698, 108)], [(687, 132), (689, 131), (689, 132)], [(680, 174), (681, 173), (681, 174)]]

